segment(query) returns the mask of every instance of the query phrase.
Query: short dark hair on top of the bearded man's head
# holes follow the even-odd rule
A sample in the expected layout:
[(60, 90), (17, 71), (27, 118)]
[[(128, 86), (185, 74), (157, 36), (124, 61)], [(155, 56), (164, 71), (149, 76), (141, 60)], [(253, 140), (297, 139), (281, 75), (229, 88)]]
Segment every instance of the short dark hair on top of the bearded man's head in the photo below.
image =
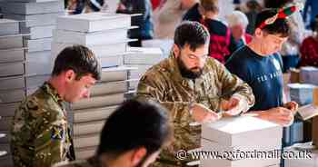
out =
[(204, 25), (198, 22), (184, 21), (174, 32), (174, 44), (183, 48), (184, 44), (189, 44), (190, 49), (196, 48), (210, 42), (210, 34)]

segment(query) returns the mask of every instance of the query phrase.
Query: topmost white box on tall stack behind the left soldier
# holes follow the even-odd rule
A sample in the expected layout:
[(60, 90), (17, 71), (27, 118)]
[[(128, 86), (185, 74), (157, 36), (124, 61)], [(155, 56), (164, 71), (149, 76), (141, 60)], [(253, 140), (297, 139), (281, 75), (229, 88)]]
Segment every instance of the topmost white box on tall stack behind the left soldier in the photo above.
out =
[(57, 18), (57, 29), (77, 32), (97, 32), (131, 26), (131, 16), (110, 13), (65, 15)]

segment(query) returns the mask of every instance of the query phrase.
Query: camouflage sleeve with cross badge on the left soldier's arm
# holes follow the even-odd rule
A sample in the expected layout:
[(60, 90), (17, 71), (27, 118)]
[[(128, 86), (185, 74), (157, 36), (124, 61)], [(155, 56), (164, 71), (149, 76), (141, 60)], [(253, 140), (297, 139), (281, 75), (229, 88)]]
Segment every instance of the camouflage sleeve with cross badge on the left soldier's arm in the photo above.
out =
[(38, 112), (43, 116), (36, 119), (34, 166), (51, 166), (55, 162), (65, 161), (68, 134), (64, 116), (54, 109)]

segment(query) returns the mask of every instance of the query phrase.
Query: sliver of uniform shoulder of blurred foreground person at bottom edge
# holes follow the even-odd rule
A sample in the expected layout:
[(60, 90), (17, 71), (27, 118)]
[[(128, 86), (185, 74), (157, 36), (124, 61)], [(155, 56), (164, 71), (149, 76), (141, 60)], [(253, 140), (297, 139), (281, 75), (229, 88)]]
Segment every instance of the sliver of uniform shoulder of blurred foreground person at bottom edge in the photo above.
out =
[(96, 156), (91, 157), (87, 160), (79, 160), (75, 162), (60, 162), (55, 164), (53, 167), (107, 167), (102, 165)]

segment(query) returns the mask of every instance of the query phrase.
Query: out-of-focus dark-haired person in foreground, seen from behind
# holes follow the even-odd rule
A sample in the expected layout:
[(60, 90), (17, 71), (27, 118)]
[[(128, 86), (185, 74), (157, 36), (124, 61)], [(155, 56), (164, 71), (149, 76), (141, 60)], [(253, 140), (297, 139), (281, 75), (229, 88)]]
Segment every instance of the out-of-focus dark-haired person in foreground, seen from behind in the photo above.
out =
[(104, 124), (96, 154), (54, 167), (147, 167), (172, 138), (165, 109), (158, 103), (129, 100)]

